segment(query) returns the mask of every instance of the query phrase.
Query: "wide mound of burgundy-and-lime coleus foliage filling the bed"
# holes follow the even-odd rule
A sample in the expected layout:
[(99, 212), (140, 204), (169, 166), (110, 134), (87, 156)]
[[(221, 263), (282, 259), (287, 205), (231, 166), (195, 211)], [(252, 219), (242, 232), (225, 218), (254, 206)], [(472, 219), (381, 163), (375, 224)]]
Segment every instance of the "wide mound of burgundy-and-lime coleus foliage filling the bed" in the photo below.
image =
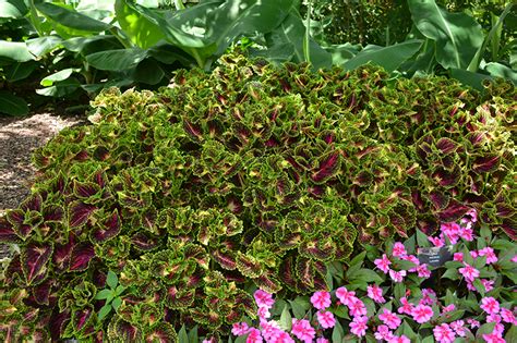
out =
[(0, 241), (21, 249), (1, 334), (224, 334), (254, 316), (250, 287), (329, 290), (354, 248), (471, 208), (515, 238), (516, 103), (509, 84), (481, 96), (241, 56), (155, 94), (105, 91), (93, 125), (36, 151), (32, 195), (0, 219)]

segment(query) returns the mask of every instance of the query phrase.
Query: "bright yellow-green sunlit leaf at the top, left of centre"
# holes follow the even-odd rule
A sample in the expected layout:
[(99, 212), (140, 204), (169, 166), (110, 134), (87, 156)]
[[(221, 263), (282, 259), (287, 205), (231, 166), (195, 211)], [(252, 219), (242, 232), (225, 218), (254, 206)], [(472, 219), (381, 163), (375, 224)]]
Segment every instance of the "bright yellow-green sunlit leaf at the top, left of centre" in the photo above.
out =
[(165, 39), (161, 28), (128, 4), (128, 1), (117, 0), (115, 13), (124, 34), (140, 48), (151, 48)]

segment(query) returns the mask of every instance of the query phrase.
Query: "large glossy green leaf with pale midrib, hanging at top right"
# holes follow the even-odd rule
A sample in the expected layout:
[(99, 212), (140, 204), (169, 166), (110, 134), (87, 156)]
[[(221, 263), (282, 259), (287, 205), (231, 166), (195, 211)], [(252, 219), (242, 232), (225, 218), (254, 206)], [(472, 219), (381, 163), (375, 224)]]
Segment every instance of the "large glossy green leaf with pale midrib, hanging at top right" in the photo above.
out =
[(443, 68), (467, 69), (483, 44), (481, 26), (466, 13), (449, 13), (434, 0), (408, 0), (414, 25), (436, 41), (436, 60)]

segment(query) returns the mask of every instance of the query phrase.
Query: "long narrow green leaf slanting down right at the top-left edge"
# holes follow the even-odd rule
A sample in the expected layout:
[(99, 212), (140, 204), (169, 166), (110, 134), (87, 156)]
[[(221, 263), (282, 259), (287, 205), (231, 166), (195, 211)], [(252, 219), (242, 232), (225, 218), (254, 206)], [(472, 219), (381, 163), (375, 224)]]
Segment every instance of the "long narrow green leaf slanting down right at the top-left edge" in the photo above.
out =
[(58, 24), (73, 29), (100, 33), (111, 27), (109, 24), (94, 20), (74, 10), (68, 9), (64, 5), (58, 5), (49, 2), (38, 2), (36, 3), (36, 9)]

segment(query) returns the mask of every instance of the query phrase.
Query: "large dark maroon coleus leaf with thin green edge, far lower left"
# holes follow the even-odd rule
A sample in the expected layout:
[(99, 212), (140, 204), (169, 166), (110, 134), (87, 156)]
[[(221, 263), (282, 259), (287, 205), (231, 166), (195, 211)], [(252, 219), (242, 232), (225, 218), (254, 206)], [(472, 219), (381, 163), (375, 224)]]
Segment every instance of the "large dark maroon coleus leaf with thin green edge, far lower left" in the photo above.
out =
[(21, 262), (27, 285), (39, 283), (45, 279), (52, 250), (51, 243), (31, 242), (25, 246), (21, 255)]

